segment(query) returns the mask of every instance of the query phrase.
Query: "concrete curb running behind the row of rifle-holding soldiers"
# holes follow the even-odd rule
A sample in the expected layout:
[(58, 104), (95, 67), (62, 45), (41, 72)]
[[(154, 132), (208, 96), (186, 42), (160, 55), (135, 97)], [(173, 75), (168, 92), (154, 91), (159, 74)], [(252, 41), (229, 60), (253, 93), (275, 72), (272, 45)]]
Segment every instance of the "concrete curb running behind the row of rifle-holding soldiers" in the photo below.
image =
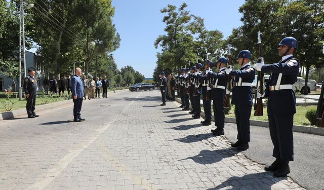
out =
[[(176, 101), (181, 103), (181, 99), (179, 99), (179, 98), (176, 98)], [(189, 108), (192, 109), (191, 104), (190, 104)], [(201, 110), (200, 116), (205, 118), (205, 112), (203, 110)], [(215, 122), (214, 117), (212, 117), (212, 121)], [(235, 118), (225, 117), (225, 123), (236, 123), (236, 120), (235, 120)], [(259, 126), (259, 127), (269, 127), (269, 122), (264, 122), (264, 121), (250, 120), (250, 124), (253, 126)], [(294, 125), (293, 131), (324, 136), (324, 128), (318, 128), (318, 127)]]

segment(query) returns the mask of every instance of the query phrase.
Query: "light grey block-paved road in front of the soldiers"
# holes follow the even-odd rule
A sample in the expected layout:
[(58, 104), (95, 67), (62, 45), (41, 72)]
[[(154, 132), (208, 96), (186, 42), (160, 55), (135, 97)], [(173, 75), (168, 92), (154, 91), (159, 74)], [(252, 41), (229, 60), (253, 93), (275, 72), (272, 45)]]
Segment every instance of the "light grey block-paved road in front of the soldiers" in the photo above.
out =
[[(0, 189), (303, 189), (274, 178), (159, 91), (114, 93), (0, 123)], [(72, 100), (71, 100), (72, 102)], [(37, 111), (37, 109), (36, 109)]]

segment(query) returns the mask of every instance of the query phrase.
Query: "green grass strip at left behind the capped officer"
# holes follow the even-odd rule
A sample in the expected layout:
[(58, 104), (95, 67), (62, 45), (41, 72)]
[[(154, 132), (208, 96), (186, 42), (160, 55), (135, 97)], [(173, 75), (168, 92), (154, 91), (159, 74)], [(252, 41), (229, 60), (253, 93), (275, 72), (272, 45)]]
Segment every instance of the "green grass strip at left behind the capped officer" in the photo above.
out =
[[(45, 104), (44, 101), (45, 99), (42, 97), (42, 92), (37, 92), (37, 97), (36, 97), (36, 106), (37, 105), (42, 105)], [(63, 101), (65, 100), (63, 97), (53, 97), (52, 99), (49, 99), (49, 96), (45, 96), (48, 98), (49, 102), (48, 103), (53, 103), (57, 101)], [(19, 101), (19, 97), (16, 98), (15, 95), (12, 95), (10, 98), (11, 101), (15, 102), (12, 106), (11, 111), (17, 110), (17, 109), (23, 109), (26, 108), (26, 100), (22, 98), (21, 101)], [(43, 100), (43, 101), (42, 101)], [(6, 101), (6, 96), (4, 92), (0, 92), (0, 112), (6, 112), (7, 110), (5, 109), (5, 104), (3, 102)]]

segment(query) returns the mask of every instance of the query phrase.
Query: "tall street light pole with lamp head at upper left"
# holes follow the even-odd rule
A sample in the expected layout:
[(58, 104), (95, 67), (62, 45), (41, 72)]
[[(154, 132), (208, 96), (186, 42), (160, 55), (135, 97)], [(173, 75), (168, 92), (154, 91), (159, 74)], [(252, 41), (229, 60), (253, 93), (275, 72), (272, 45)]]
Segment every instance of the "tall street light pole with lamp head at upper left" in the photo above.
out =
[[(26, 78), (26, 54), (25, 54), (25, 21), (24, 21), (24, 0), (20, 0), (19, 16), (19, 100), (22, 99), (21, 87), (21, 61), (24, 61), (24, 78)], [(33, 8), (34, 4), (29, 4), (26, 9)]]

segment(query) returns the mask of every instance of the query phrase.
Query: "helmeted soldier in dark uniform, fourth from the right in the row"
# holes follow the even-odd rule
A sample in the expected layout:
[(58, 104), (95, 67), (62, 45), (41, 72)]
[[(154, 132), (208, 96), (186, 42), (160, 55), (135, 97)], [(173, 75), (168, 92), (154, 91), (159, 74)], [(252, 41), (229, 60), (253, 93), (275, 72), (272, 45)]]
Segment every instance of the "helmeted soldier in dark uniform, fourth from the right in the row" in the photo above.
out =
[(211, 120), (212, 120), (212, 101), (207, 100), (207, 90), (208, 89), (208, 77), (207, 73), (211, 71), (211, 67), (213, 66), (213, 62), (211, 60), (207, 60), (204, 65), (205, 69), (205, 75), (201, 74), (199, 75), (199, 79), (201, 80), (202, 84), (202, 90), (203, 90), (203, 106), (204, 106), (204, 111), (205, 111), (205, 121), (202, 121), (201, 123), (205, 126), (212, 125)]

